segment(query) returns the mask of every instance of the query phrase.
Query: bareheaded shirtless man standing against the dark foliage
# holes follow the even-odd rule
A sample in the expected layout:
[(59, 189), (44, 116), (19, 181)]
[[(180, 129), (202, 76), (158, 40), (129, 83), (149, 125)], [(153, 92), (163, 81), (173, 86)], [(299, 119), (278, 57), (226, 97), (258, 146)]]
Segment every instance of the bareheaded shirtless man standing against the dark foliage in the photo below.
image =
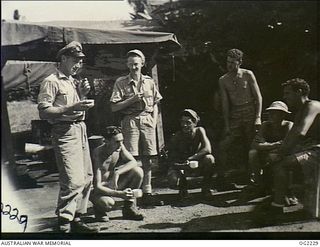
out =
[[(242, 57), (242, 51), (229, 50), (228, 72), (219, 79), (225, 124), (225, 138), (220, 143), (219, 159), (222, 174), (228, 169), (227, 153), (235, 149), (234, 142), (244, 142), (244, 152), (247, 156), (257, 126), (261, 125), (262, 96), (253, 72), (240, 68)], [(246, 162), (247, 160), (242, 161)], [(242, 167), (241, 170), (246, 169)]]

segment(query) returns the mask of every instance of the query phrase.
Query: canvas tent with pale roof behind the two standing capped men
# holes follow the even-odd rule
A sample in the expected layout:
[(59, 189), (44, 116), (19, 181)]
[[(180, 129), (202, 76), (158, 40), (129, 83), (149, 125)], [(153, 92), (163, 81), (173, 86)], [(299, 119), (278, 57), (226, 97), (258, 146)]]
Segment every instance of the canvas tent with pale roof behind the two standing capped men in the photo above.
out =
[[(82, 43), (84, 52), (87, 54), (87, 65), (83, 76), (95, 80), (97, 84), (108, 82), (105, 88), (109, 91), (114, 79), (127, 73), (124, 59), (129, 49), (143, 50), (147, 61), (150, 61), (148, 72), (158, 83), (157, 66), (154, 62), (155, 54), (159, 51), (171, 52), (180, 47), (172, 33), (108, 30), (107, 28), (90, 29), (85, 28), (86, 25), (83, 26), (84, 28), (75, 28), (62, 26), (61, 23), (54, 26), (2, 21), (2, 133), (5, 134), (2, 135), (2, 140), (5, 138), (7, 144), (10, 141), (10, 125), (5, 93), (17, 87), (24, 87), (28, 90), (28, 87), (30, 89), (30, 87), (38, 85), (55, 68), (55, 55), (66, 43), (72, 40)], [(107, 96), (105, 94), (103, 97), (105, 102)], [(101, 108), (105, 109), (105, 107)], [(163, 139), (163, 136), (161, 137), (161, 123), (159, 131), (159, 137)], [(9, 147), (10, 145), (5, 146)], [(10, 150), (6, 151), (10, 153)], [(11, 155), (9, 154), (9, 156)]]

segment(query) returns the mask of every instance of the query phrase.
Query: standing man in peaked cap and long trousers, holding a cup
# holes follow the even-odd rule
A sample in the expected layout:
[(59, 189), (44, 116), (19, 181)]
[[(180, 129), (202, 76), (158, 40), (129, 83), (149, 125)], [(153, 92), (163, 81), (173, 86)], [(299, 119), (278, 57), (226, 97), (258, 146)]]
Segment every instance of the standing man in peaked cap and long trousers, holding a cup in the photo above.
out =
[(59, 231), (64, 233), (98, 231), (80, 218), (87, 212), (93, 176), (84, 119), (94, 102), (85, 100), (90, 91), (88, 81), (77, 83), (72, 77), (84, 57), (79, 42), (63, 47), (57, 54), (60, 65), (43, 80), (38, 96), (40, 118), (52, 124), (60, 182), (56, 214)]

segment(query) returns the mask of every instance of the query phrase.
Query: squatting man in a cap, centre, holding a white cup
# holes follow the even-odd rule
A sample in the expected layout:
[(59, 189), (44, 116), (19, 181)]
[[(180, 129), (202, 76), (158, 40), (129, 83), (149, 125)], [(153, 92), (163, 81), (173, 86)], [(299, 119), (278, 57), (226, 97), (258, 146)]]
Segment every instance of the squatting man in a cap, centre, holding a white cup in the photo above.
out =
[(192, 173), (193, 168), (189, 166), (192, 161), (198, 167), (194, 170), (203, 176), (202, 194), (210, 196), (210, 182), (213, 174), (215, 159), (211, 154), (211, 144), (202, 127), (197, 127), (200, 118), (198, 114), (185, 109), (181, 113), (181, 130), (172, 138), (169, 145), (169, 183), (172, 187), (178, 186), (179, 195), (182, 198), (188, 197), (186, 177)]

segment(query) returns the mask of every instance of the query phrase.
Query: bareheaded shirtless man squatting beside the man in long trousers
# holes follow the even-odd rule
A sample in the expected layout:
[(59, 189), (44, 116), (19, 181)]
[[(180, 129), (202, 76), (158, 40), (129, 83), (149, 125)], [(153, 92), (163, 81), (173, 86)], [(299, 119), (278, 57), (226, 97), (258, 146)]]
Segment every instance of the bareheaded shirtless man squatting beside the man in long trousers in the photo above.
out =
[(100, 221), (108, 221), (106, 212), (115, 204), (113, 197), (118, 197), (124, 199), (122, 209), (124, 219), (143, 220), (144, 216), (136, 208), (136, 199), (132, 191), (140, 188), (143, 170), (124, 147), (120, 127), (107, 127), (102, 135), (105, 143), (93, 151), (92, 202), (95, 216)]

